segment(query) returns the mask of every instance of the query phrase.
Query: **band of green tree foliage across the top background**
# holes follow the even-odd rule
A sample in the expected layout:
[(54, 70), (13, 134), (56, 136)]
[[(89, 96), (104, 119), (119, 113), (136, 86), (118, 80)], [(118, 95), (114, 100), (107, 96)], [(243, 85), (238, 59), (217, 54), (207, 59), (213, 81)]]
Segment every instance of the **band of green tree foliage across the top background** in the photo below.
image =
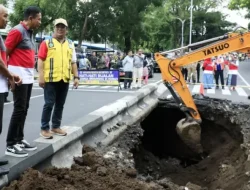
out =
[[(194, 0), (193, 42), (222, 35), (233, 26), (221, 13), (207, 11), (218, 3)], [(69, 23), (68, 36), (79, 44), (83, 40), (107, 41), (125, 51), (176, 48), (181, 43), (181, 22), (177, 17), (185, 19), (184, 43), (189, 42), (190, 0), (16, 0), (10, 15), (12, 26), (22, 20), (29, 5), (42, 10), (39, 31), (53, 31), (53, 21), (62, 17)]]

